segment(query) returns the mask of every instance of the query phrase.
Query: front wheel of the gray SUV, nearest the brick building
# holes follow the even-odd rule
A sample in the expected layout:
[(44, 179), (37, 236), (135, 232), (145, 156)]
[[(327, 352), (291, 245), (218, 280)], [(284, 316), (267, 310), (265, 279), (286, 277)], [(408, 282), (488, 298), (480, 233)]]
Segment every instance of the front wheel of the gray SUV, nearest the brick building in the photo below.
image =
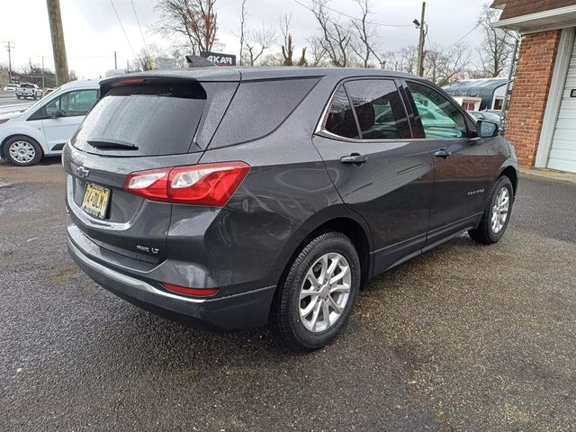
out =
[(512, 182), (507, 175), (501, 175), (492, 186), (490, 200), (484, 209), (480, 225), (477, 229), (468, 231), (470, 237), (482, 245), (498, 243), (508, 228), (513, 203)]

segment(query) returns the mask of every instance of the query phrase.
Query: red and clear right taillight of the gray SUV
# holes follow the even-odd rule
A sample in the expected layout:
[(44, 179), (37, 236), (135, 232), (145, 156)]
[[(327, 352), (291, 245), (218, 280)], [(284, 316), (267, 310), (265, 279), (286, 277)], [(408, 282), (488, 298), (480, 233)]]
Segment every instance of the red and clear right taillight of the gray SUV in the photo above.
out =
[(248, 171), (244, 162), (150, 169), (128, 175), (124, 191), (153, 201), (223, 207)]

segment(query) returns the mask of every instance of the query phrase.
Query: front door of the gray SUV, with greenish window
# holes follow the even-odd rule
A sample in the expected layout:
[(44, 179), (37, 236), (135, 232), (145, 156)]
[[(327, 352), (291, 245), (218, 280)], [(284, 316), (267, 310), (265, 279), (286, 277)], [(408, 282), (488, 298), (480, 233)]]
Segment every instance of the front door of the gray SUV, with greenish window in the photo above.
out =
[(433, 151), (435, 183), (427, 247), (471, 229), (490, 193), (491, 169), (482, 139), (464, 112), (431, 85), (407, 81), (419, 112), (414, 135)]

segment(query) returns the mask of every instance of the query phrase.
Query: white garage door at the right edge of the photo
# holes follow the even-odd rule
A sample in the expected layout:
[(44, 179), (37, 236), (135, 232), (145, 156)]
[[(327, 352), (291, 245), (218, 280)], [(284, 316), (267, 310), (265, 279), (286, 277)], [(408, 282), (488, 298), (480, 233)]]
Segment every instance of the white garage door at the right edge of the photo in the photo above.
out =
[[(571, 96), (574, 90), (574, 97)], [(576, 43), (560, 105), (548, 167), (576, 173)]]

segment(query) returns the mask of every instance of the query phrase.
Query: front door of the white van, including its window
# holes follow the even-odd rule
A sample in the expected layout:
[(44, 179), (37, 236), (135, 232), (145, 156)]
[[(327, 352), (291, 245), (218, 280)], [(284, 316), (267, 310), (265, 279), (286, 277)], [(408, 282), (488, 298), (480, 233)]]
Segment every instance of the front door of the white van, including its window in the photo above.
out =
[[(42, 129), (50, 150), (61, 149), (74, 135), (97, 98), (95, 88), (74, 90), (61, 94), (43, 108)], [(54, 118), (55, 112), (62, 116)]]

